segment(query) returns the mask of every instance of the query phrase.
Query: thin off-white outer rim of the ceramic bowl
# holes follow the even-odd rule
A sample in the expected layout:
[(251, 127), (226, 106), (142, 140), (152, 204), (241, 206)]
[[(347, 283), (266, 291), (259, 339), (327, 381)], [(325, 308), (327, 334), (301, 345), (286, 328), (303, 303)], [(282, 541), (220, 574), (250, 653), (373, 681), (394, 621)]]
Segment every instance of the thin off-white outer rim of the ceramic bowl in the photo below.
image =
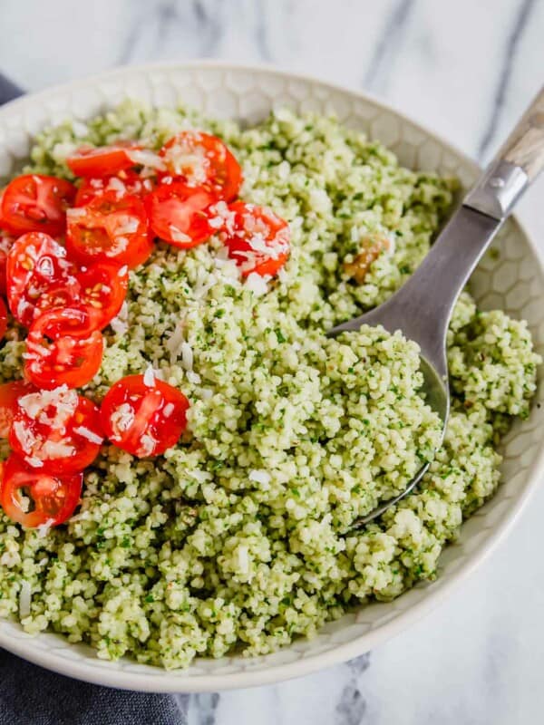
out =
[[(326, 89), (357, 98), (365, 102), (371, 102), (377, 109), (388, 111), (403, 122), (413, 125), (418, 131), (422, 131), (427, 139), (432, 139), (439, 143), (443, 149), (452, 153), (453, 156), (460, 159), (471, 169), (475, 171), (479, 169), (469, 156), (463, 151), (456, 148), (449, 141), (433, 131), (430, 131), (424, 124), (414, 121), (411, 116), (406, 115), (402, 111), (398, 111), (393, 105), (385, 103), (372, 93), (362, 92), (358, 89), (350, 88), (335, 82), (324, 81), (314, 75), (307, 73), (290, 73), (281, 70), (274, 65), (267, 63), (233, 63), (229, 61), (219, 60), (195, 60), (189, 62), (156, 62), (156, 63), (140, 63), (135, 65), (121, 66), (102, 73), (95, 73), (85, 76), (82, 79), (64, 82), (50, 86), (43, 91), (29, 93), (14, 101), (5, 103), (0, 108), (0, 119), (4, 115), (9, 115), (12, 110), (24, 105), (34, 105), (36, 102), (44, 102), (50, 96), (58, 92), (69, 93), (77, 90), (81, 86), (90, 82), (112, 81), (117, 77), (130, 75), (131, 73), (147, 73), (147, 72), (172, 72), (172, 71), (190, 71), (199, 69), (214, 69), (218, 71), (242, 71), (247, 73), (268, 73), (276, 75), (284, 79), (292, 81), (318, 83)], [(529, 247), (534, 253), (539, 263), (539, 272), (544, 275), (543, 259), (538, 247), (532, 242), (531, 237), (527, 233), (525, 227), (520, 224), (516, 217), (512, 217), (512, 221), (517, 224), (523, 237), (525, 237)], [(46, 652), (36, 650), (33, 647), (34, 638), (28, 635), (23, 638), (13, 638), (0, 631), (0, 646), (9, 652), (13, 652), (19, 657), (24, 658), (28, 662), (40, 665), (47, 670), (58, 672), (68, 677), (78, 680), (92, 682), (93, 684), (104, 685), (106, 687), (115, 687), (124, 690), (147, 691), (147, 692), (206, 692), (232, 690), (236, 688), (256, 687), (258, 685), (271, 684), (278, 681), (285, 681), (296, 677), (302, 677), (311, 672), (332, 667), (335, 664), (350, 660), (368, 650), (373, 649), (378, 644), (384, 643), (391, 639), (404, 629), (407, 629), (413, 623), (418, 622), (425, 614), (428, 614), (436, 606), (441, 604), (448, 594), (461, 584), (461, 581), (475, 572), (475, 570), (487, 559), (488, 556), (499, 546), (502, 541), (510, 533), (511, 528), (527, 504), (529, 497), (539, 484), (539, 477), (544, 473), (544, 448), (540, 450), (539, 455), (533, 461), (527, 474), (527, 483), (515, 499), (514, 504), (510, 507), (509, 513), (503, 517), (500, 527), (486, 537), (479, 546), (476, 546), (471, 556), (459, 566), (447, 580), (440, 577), (438, 585), (425, 596), (421, 602), (413, 604), (403, 613), (398, 614), (389, 622), (378, 625), (369, 633), (365, 633), (359, 637), (355, 637), (349, 643), (338, 644), (334, 649), (327, 652), (317, 652), (309, 654), (295, 662), (287, 662), (282, 664), (271, 664), (267, 669), (248, 670), (245, 672), (232, 672), (225, 674), (203, 674), (198, 677), (190, 676), (186, 671), (178, 670), (174, 672), (160, 671), (157, 674), (148, 674), (145, 672), (128, 672), (123, 670), (114, 670), (109, 667), (101, 669), (95, 664), (90, 665), (87, 662), (77, 662), (69, 660), (66, 657), (55, 654), (54, 652)]]

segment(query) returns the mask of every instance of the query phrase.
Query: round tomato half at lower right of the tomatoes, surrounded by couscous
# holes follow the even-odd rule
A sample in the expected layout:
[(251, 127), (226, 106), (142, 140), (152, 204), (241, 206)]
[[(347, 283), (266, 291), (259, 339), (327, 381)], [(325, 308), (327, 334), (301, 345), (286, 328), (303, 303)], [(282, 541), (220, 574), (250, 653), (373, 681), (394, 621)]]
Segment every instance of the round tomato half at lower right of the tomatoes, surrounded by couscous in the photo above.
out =
[(187, 427), (189, 401), (166, 382), (127, 375), (106, 393), (102, 428), (112, 443), (133, 456), (158, 456), (180, 439)]

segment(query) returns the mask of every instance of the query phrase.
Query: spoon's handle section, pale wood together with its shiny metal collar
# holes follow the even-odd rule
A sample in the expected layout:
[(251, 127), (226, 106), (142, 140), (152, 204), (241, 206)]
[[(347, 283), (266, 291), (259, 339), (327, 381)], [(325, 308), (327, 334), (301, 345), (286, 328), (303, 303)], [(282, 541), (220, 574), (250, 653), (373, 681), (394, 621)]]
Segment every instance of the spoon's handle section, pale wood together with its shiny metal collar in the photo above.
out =
[(530, 182), (544, 169), (544, 88), (463, 204), (501, 220), (510, 214)]

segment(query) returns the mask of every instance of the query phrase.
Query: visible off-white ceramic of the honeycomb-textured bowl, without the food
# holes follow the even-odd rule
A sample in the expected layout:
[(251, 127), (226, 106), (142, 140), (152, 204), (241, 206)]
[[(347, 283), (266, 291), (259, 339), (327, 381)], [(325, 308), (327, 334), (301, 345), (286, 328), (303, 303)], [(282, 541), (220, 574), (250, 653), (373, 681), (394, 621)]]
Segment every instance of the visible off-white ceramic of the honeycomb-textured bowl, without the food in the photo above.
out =
[[(131, 96), (157, 105), (184, 102), (212, 116), (242, 121), (262, 119), (273, 107), (335, 112), (346, 124), (382, 140), (403, 164), (455, 174), (471, 184), (478, 169), (458, 150), (397, 111), (362, 93), (267, 68), (225, 63), (160, 64), (123, 68), (26, 96), (0, 109), (0, 177), (28, 153), (32, 137), (45, 125), (67, 117), (86, 119)], [(498, 237), (500, 256), (488, 255), (472, 277), (483, 308), (500, 307), (529, 320), (539, 352), (544, 347), (544, 274), (534, 247), (510, 220)], [(542, 401), (542, 388), (539, 401)], [(214, 691), (264, 684), (343, 662), (384, 642), (428, 612), (460, 585), (509, 531), (536, 487), (543, 468), (541, 426), (544, 407), (518, 421), (504, 441), (503, 483), (486, 506), (461, 528), (455, 545), (440, 560), (440, 576), (390, 604), (370, 604), (357, 614), (327, 624), (310, 642), (298, 640), (271, 655), (247, 659), (199, 659), (187, 671), (121, 660), (104, 662), (85, 646), (46, 633), (32, 638), (15, 623), (0, 621), (0, 646), (50, 670), (81, 680), (141, 691)]]

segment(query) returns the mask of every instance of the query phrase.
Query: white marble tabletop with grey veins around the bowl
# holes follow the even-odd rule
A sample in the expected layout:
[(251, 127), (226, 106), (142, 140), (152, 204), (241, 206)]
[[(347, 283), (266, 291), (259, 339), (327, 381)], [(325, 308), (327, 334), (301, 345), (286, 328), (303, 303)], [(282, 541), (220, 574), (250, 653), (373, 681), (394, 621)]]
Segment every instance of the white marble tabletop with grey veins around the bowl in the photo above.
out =
[[(485, 160), (544, 82), (544, 0), (1, 0), (0, 69), (28, 89), (120, 63), (267, 62), (373, 92)], [(544, 252), (544, 179), (521, 217)], [(194, 725), (544, 720), (544, 491), (446, 604), (297, 681), (180, 697)], [(150, 725), (154, 725), (151, 724)]]

